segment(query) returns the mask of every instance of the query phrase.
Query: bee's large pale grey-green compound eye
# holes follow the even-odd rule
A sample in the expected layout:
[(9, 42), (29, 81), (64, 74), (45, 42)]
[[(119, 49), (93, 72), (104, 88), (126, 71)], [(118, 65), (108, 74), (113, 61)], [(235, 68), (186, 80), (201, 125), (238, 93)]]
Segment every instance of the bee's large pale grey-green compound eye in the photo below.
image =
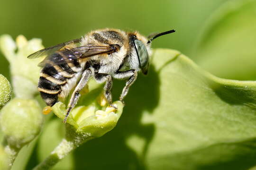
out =
[(138, 60), (139, 60), (139, 66), (142, 70), (142, 73), (146, 75), (148, 70), (148, 59), (149, 59), (146, 46), (144, 45), (143, 42), (139, 40), (134, 40), (134, 44), (135, 44), (135, 49), (136, 49)]

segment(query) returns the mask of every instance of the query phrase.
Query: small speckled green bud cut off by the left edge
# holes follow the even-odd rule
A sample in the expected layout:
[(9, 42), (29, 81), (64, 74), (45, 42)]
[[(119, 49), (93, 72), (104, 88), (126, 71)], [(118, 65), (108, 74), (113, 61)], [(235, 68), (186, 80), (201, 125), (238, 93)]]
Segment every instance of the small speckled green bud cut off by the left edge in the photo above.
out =
[(9, 102), (11, 98), (11, 86), (9, 81), (0, 74), (0, 108)]

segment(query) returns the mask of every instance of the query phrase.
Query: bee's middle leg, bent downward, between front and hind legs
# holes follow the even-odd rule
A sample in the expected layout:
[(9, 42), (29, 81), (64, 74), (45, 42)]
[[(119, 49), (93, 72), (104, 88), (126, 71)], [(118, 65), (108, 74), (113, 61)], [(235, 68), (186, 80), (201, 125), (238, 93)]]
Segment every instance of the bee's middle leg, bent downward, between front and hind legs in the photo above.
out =
[(112, 104), (112, 94), (111, 94), (111, 88), (113, 85), (112, 77), (109, 74), (105, 74), (105, 73), (94, 73), (94, 76), (98, 83), (106, 82), (106, 84), (104, 85), (104, 96), (109, 102), (110, 106), (116, 108)]

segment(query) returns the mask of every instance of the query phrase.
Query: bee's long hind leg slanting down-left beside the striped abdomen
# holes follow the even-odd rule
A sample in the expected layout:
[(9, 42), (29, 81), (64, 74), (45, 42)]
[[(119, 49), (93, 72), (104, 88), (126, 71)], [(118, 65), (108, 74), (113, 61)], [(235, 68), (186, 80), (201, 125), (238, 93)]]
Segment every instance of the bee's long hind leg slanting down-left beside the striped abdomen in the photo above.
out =
[(81, 77), (80, 81), (78, 82), (78, 84), (76, 85), (76, 87), (75, 87), (75, 89), (74, 89), (74, 91), (71, 95), (71, 98), (69, 100), (68, 109), (67, 109), (67, 113), (65, 115), (64, 123), (66, 123), (67, 117), (68, 117), (70, 111), (74, 108), (74, 106), (76, 105), (79, 97), (81, 96), (81, 94), (79, 92), (87, 84), (90, 76), (91, 76), (91, 70), (90, 69), (86, 69), (85, 71), (83, 71), (82, 77)]

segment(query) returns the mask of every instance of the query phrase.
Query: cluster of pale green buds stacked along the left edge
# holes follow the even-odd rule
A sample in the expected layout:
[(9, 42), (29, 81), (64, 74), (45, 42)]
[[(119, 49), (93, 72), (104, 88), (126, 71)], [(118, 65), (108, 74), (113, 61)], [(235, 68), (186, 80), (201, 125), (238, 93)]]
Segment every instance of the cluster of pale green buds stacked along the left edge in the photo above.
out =
[[(10, 100), (11, 86), (0, 75), (0, 127), (6, 143), (3, 153), (7, 154), (9, 167), (20, 149), (39, 134), (43, 124), (42, 109), (35, 99), (38, 93), (39, 59), (27, 59), (27, 55), (42, 48), (40, 39), (27, 41), (23, 35), (19, 35), (15, 42), (9, 35), (0, 36), (0, 50), (10, 64), (14, 93), (14, 98)], [(1, 157), (4, 156), (0, 152)], [(3, 169), (1, 162), (0, 169)]]

